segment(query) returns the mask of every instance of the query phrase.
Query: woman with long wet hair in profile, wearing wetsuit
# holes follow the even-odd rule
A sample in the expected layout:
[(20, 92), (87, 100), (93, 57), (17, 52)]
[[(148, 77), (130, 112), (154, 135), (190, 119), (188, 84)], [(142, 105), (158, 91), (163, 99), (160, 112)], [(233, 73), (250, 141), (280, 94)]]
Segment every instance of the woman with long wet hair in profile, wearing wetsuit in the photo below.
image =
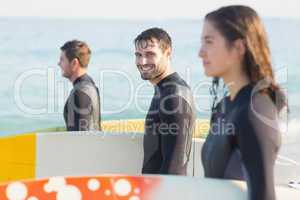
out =
[(273, 200), (274, 165), (281, 144), (278, 114), (286, 99), (274, 80), (266, 32), (247, 6), (205, 16), (199, 51), (205, 74), (228, 88), (212, 107), (202, 149), (205, 177), (245, 180), (251, 200)]

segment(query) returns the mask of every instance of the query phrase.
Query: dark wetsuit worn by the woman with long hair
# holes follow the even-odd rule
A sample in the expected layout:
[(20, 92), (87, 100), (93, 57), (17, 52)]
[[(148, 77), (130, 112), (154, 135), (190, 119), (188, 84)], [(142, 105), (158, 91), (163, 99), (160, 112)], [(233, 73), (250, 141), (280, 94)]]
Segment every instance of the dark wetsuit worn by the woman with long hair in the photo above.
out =
[(250, 84), (225, 97), (202, 148), (205, 177), (245, 180), (250, 200), (274, 200), (274, 165), (281, 144), (277, 109)]

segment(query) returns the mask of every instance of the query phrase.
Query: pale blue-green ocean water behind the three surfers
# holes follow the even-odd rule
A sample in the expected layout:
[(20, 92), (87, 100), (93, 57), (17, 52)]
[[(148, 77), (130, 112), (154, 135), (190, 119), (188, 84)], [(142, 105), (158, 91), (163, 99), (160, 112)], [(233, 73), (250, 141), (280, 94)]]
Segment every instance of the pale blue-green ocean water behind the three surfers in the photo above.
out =
[[(300, 20), (264, 18), (274, 70), (289, 98), (289, 132), (300, 129)], [(100, 88), (103, 120), (144, 118), (153, 87), (134, 64), (133, 40), (161, 27), (173, 40), (172, 66), (191, 86), (199, 118), (208, 118), (209, 85), (198, 58), (202, 19), (104, 20), (0, 18), (0, 135), (64, 126), (63, 106), (72, 88), (57, 65), (71, 39), (92, 50), (91, 75)]]

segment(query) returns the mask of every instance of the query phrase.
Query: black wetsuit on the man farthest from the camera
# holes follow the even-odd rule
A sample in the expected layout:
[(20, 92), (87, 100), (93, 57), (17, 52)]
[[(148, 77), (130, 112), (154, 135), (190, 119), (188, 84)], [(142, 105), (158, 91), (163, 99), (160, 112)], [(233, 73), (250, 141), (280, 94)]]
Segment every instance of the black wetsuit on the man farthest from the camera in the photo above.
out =
[(101, 130), (99, 90), (87, 74), (73, 82), (64, 119), (68, 131)]

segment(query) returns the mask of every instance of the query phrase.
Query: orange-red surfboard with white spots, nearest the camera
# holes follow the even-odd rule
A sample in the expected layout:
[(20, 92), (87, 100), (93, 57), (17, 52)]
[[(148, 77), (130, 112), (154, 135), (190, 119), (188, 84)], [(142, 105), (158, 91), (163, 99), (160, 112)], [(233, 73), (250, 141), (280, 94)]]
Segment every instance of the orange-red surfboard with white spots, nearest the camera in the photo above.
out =
[[(276, 188), (278, 200), (298, 200), (300, 191)], [(246, 200), (244, 182), (183, 176), (101, 175), (51, 177), (0, 185), (2, 200)]]

